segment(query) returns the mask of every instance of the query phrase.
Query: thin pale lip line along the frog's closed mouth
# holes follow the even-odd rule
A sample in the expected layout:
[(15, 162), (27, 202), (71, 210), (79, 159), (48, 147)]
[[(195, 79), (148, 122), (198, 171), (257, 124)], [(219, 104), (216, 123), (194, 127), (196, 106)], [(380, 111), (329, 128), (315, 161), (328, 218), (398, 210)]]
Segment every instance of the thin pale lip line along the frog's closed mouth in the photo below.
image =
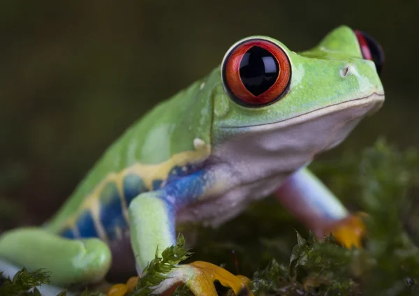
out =
[(384, 102), (384, 94), (374, 92), (368, 96), (363, 96), (361, 98), (354, 98), (353, 100), (337, 103), (334, 105), (328, 105), (327, 107), (312, 110), (310, 112), (303, 113), (295, 117), (291, 117), (291, 118), (280, 120), (280, 121), (274, 121), (267, 124), (255, 124), (255, 125), (249, 125), (249, 126), (220, 126), (220, 128), (223, 128), (223, 129), (267, 128), (268, 126), (272, 126), (272, 125), (274, 125), (275, 127), (290, 126), (293, 124), (307, 122), (312, 119), (316, 119), (318, 117), (332, 114), (334, 112), (339, 112), (341, 110), (351, 109), (353, 107), (359, 107), (362, 105), (372, 105), (372, 107), (368, 108), (368, 110), (365, 112), (365, 114), (372, 114), (381, 108), (381, 105), (383, 105), (383, 102)]

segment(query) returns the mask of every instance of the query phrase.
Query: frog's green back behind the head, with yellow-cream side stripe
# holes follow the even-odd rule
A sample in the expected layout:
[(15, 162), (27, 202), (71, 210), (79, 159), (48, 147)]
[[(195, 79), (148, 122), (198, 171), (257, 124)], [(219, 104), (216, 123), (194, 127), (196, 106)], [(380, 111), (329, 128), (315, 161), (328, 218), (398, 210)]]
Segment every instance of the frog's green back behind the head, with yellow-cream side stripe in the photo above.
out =
[(141, 187), (138, 191), (148, 191), (164, 182), (173, 168), (205, 160), (210, 154), (212, 90), (219, 82), (216, 68), (128, 128), (45, 227), (52, 232), (73, 229), (85, 212), (96, 223), (101, 208), (112, 204), (112, 192), (118, 191), (126, 207), (124, 182), (135, 182), (135, 177), (135, 186)]

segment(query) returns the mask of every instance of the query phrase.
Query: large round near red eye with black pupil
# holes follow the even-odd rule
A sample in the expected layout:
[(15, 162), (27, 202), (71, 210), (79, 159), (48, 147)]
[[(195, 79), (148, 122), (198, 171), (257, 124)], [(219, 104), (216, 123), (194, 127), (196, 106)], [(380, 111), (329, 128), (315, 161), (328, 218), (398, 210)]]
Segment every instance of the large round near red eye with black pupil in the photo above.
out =
[(278, 45), (251, 39), (227, 52), (222, 73), (226, 90), (236, 103), (260, 107), (284, 96), (291, 65)]

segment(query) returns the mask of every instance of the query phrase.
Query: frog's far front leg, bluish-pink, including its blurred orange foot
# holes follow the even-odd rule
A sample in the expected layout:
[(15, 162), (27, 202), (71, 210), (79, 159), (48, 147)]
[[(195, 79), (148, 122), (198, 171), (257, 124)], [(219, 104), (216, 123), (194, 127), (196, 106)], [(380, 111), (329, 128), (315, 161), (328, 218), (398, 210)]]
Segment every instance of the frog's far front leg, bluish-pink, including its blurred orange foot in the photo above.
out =
[(276, 191), (275, 196), (318, 237), (332, 232), (344, 246), (360, 247), (365, 234), (360, 216), (351, 215), (307, 168), (291, 175)]

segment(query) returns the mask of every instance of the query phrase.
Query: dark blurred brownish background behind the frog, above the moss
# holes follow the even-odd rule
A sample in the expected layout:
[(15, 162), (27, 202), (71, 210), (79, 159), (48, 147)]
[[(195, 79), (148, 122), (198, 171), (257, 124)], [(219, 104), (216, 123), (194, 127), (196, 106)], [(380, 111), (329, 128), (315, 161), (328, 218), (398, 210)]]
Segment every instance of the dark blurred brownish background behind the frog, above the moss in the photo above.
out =
[(383, 109), (341, 147), (417, 145), (418, 1), (2, 1), (0, 231), (42, 223), (135, 119), (206, 75), (240, 38), (292, 50), (340, 24), (383, 46)]

